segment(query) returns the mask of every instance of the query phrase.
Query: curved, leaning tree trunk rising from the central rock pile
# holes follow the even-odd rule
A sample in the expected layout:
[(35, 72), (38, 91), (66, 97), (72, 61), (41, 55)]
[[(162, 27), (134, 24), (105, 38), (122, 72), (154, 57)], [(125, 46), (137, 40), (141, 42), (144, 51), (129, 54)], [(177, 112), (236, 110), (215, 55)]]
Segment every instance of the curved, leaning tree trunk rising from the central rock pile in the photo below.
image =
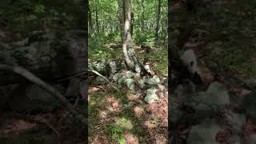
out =
[(118, 0), (121, 34), (122, 34), (122, 50), (125, 56), (126, 64), (130, 70), (141, 71), (141, 64), (135, 56), (131, 39), (131, 6), (130, 0)]

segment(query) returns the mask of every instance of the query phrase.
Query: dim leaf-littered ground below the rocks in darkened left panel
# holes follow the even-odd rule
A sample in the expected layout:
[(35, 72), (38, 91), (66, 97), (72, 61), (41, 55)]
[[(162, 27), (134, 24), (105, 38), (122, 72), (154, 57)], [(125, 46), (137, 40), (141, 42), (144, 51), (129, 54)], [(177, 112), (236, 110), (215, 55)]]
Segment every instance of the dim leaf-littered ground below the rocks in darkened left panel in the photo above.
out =
[[(3, 42), (17, 42), (26, 38), (15, 38), (15, 36), (16, 34), (12, 31), (0, 29), (0, 38)], [(75, 109), (78, 114), (84, 114), (85, 103), (78, 101)], [(81, 122), (78, 122), (68, 110), (63, 108), (47, 112), (42, 112), (42, 110), (18, 112), (7, 108), (0, 112), (1, 144), (38, 142), (42, 144), (82, 144), (86, 141), (86, 126), (81, 126)]]

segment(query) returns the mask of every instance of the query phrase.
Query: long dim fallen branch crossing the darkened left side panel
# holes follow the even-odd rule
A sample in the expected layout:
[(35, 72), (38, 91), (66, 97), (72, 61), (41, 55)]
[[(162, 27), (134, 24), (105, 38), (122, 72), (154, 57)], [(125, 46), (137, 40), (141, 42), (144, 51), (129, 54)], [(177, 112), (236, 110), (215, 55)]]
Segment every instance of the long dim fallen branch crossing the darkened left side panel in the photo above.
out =
[[(40, 86), (43, 90), (46, 90), (51, 95), (53, 95), (55, 98), (58, 98), (64, 106), (68, 110), (70, 110), (71, 114), (74, 114), (74, 116), (78, 116), (77, 111), (74, 109), (74, 107), (70, 104), (70, 102), (60, 93), (58, 90), (54, 89), (52, 86), (47, 84), (46, 82), (43, 82), (40, 78), (35, 76), (34, 74), (30, 73), (30, 71), (22, 68), (21, 66), (9, 66), (0, 64), (0, 70), (8, 70), (11, 72), (14, 72), (16, 74), (22, 75), (22, 77), (28, 79), (30, 82), (35, 83), (36, 85)], [(81, 121), (82, 119), (79, 118)]]

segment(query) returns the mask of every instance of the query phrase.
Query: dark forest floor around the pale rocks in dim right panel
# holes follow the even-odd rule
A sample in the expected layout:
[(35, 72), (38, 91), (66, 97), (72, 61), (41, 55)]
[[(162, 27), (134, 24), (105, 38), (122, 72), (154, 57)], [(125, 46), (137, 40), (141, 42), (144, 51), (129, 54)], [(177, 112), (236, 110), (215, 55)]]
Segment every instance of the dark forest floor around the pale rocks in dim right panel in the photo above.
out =
[[(249, 1), (222, 1), (206, 9), (198, 8), (196, 12), (187, 12), (178, 3), (173, 6), (172, 38), (186, 38), (178, 35), (182, 34), (182, 30), (191, 30), (189, 38), (182, 40), (185, 41), (183, 50), (192, 49), (197, 55), (203, 78), (203, 85), (198, 90), (205, 91), (211, 82), (224, 84), (230, 95), (228, 109), (232, 112), (242, 108), (241, 102), (249, 92), (253, 94), (250, 104), (256, 102), (256, 87), (248, 87), (243, 83), (256, 82), (254, 6), (255, 2)], [(256, 109), (252, 107), (250, 110), (254, 113)], [(248, 113), (246, 110), (241, 114)], [(234, 118), (234, 121), (237, 120)], [(186, 135), (191, 127), (186, 126), (179, 133)], [(246, 138), (253, 139), (255, 127), (256, 121), (250, 117), (242, 123), (242, 133)], [(230, 131), (230, 134), (233, 133)], [(181, 139), (181, 142), (187, 142), (186, 138)], [(229, 142), (230, 135), (223, 134), (221, 139), (222, 143)]]

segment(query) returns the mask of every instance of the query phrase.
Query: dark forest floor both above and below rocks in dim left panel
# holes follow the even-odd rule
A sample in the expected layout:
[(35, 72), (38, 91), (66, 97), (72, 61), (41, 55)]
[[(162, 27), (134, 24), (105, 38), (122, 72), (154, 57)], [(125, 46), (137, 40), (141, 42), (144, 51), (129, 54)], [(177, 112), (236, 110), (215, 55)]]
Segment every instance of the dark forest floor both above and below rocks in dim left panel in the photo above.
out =
[[(79, 29), (78, 27), (84, 26), (84, 23), (78, 24), (79, 20), (73, 20), (73, 18), (83, 18), (83, 14), (86, 13), (85, 10), (78, 8), (80, 4), (74, 5), (74, 2), (35, 2), (25, 0), (15, 2), (1, 1), (0, 3), (0, 41), (4, 43), (10, 44), (10, 42), (21, 41), (38, 30), (66, 31), (77, 30)], [(59, 6), (66, 8), (58, 10)], [(79, 14), (76, 13), (77, 11)], [(0, 61), (2, 63), (2, 59)], [(0, 97), (4, 99), (0, 105), (1, 144), (85, 143), (86, 126), (78, 124), (77, 120), (63, 108), (51, 111), (46, 110), (47, 112), (44, 113), (42, 113), (42, 110), (17, 112), (11, 110), (8, 106), (6, 106), (7, 110), (3, 109), (4, 106), (2, 104), (5, 101), (5, 92), (9, 93), (5, 88), (6, 86), (1, 86), (0, 92)], [(18, 94), (18, 96), (22, 95)], [(20, 98), (22, 99), (22, 97)], [(78, 114), (84, 114), (85, 103), (79, 101), (76, 105), (76, 110)]]

